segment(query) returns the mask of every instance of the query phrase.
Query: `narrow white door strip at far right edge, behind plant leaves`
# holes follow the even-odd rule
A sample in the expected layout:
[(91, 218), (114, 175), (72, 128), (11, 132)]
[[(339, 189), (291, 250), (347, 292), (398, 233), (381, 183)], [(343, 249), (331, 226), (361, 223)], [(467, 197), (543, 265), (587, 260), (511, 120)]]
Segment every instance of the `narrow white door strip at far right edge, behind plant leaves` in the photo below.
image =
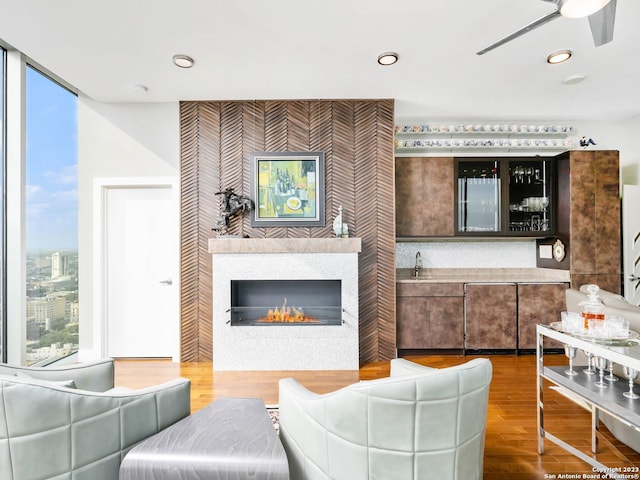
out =
[(640, 305), (640, 185), (622, 188), (622, 248), (624, 257), (624, 296)]

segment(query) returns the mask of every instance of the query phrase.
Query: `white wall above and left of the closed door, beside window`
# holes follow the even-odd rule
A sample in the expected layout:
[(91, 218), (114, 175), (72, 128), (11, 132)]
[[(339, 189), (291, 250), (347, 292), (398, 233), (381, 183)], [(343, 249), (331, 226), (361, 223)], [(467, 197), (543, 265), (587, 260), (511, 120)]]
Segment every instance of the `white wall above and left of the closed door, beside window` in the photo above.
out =
[(94, 345), (94, 179), (179, 175), (177, 103), (104, 104), (78, 99), (80, 356), (100, 354)]

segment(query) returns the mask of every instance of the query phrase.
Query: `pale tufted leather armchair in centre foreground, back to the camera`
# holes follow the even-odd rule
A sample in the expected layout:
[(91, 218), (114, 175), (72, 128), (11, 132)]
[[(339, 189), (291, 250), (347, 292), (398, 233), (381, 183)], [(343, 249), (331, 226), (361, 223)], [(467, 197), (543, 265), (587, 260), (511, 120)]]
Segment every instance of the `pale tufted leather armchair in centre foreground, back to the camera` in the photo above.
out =
[(280, 381), (292, 480), (478, 480), (492, 366), (391, 361), (389, 378), (317, 395)]

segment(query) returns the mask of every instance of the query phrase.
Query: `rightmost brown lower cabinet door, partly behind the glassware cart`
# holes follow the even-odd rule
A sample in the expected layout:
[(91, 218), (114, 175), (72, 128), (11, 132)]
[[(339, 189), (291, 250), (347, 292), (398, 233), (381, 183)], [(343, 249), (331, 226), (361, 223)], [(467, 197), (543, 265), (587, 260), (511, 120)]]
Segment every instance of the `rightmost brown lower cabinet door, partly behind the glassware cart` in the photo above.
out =
[[(567, 288), (568, 283), (518, 284), (519, 350), (535, 350), (537, 324), (549, 324), (560, 319), (560, 312), (567, 309)], [(562, 348), (562, 345), (551, 345), (551, 348)]]

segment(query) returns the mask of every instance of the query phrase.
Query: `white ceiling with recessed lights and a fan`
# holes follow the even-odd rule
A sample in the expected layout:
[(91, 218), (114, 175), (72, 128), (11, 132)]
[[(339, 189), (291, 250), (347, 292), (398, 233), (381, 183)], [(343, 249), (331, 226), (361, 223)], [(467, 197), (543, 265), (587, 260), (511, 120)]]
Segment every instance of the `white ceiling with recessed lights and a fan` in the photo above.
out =
[[(640, 1), (613, 42), (541, 0), (0, 0), (0, 39), (100, 102), (395, 98), (398, 119), (624, 121), (640, 115)], [(548, 65), (549, 53), (574, 56)], [(396, 51), (390, 67), (379, 53)], [(190, 70), (174, 54), (195, 59)], [(562, 80), (586, 80), (566, 86)], [(144, 85), (147, 92), (137, 91)]]

